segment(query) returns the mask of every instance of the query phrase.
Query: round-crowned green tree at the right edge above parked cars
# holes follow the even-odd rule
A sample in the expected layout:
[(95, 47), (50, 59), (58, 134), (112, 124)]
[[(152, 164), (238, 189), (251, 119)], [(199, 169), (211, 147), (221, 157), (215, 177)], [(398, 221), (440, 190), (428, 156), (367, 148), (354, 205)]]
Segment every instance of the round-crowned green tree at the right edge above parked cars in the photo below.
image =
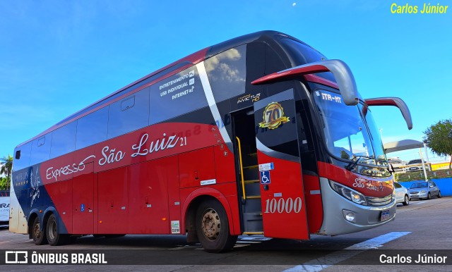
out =
[(438, 156), (451, 156), (449, 169), (452, 166), (452, 120), (440, 120), (424, 131), (424, 142)]

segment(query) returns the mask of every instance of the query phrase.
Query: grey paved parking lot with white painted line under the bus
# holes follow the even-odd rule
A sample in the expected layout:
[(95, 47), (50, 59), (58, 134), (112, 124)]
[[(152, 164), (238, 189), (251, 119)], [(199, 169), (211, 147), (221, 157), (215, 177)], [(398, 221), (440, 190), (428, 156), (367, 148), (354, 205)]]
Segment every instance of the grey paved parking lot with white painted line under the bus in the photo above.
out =
[[(436, 259), (447, 256), (452, 264), (451, 225), (452, 197), (443, 197), (412, 201), (409, 206), (399, 204), (395, 221), (361, 233), (313, 235), (309, 241), (242, 236), (234, 249), (224, 254), (208, 254), (200, 245), (186, 245), (184, 236), (171, 235), (126, 235), (113, 239), (86, 236), (73, 245), (38, 247), (28, 235), (9, 233), (7, 229), (0, 230), (0, 248), (104, 253), (109, 265), (94, 266), (100, 271), (452, 271), (452, 266), (446, 264), (415, 264), (417, 256), (434, 254)], [(412, 256), (411, 265), (393, 265), (408, 256)], [(393, 263), (388, 265), (388, 259)], [(67, 264), (7, 267), (9, 271), (93, 269), (92, 265)]]

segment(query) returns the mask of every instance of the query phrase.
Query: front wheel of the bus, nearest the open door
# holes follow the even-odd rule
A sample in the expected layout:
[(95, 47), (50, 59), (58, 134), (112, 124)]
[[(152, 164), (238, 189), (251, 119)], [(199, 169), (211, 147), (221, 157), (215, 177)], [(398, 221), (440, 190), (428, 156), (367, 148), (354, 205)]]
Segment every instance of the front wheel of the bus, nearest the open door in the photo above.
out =
[(225, 208), (214, 199), (198, 206), (195, 222), (196, 235), (207, 252), (225, 252), (237, 242), (237, 236), (230, 235)]

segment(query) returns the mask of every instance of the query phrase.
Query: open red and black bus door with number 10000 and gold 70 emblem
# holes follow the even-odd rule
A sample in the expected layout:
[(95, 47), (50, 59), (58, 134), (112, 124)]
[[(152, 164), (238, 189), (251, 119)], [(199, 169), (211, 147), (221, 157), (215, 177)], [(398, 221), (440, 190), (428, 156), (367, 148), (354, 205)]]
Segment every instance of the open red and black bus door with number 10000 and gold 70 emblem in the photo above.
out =
[(294, 90), (254, 103), (256, 148), (266, 237), (307, 240)]

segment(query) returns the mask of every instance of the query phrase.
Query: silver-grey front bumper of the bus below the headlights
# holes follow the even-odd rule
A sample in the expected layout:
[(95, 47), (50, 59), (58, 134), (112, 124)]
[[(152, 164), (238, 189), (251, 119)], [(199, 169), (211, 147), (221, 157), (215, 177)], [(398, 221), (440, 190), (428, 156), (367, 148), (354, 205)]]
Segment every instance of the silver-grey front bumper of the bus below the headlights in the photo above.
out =
[(323, 223), (318, 234), (340, 235), (375, 228), (396, 217), (394, 199), (385, 206), (363, 206), (355, 204), (335, 192), (327, 178), (320, 178)]

